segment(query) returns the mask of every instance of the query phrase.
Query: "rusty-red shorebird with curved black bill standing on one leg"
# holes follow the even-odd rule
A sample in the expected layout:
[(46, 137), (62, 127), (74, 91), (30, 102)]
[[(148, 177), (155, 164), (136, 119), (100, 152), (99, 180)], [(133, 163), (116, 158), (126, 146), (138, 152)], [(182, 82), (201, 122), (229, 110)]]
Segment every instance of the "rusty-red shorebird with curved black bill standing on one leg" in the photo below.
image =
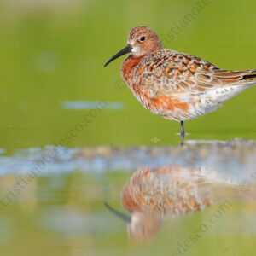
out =
[(195, 55), (163, 49), (159, 36), (147, 26), (132, 28), (125, 48), (104, 67), (125, 54), (125, 83), (151, 113), (180, 122), (182, 146), (184, 121), (215, 111), (256, 84), (256, 69), (221, 69)]

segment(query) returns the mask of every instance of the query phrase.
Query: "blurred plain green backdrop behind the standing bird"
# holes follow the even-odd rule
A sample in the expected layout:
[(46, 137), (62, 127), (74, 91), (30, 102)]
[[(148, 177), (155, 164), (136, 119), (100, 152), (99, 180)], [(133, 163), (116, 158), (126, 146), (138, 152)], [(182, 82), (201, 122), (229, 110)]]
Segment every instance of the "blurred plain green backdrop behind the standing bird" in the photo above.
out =
[[(70, 147), (179, 142), (179, 124), (144, 109), (120, 80), (121, 58), (133, 26), (160, 37), (191, 12), (183, 0), (2, 0), (0, 4), (0, 148), (7, 152), (53, 144), (89, 110), (67, 101), (121, 102), (105, 109), (73, 137)], [(256, 3), (212, 0), (165, 48), (198, 55), (226, 69), (256, 68)], [(256, 139), (256, 86), (217, 112), (185, 123), (187, 139)]]

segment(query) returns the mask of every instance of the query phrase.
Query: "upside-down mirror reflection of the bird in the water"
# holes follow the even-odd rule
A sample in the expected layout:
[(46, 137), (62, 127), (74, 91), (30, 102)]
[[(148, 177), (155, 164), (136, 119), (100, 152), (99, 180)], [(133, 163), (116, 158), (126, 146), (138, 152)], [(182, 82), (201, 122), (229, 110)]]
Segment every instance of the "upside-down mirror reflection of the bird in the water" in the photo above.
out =
[(228, 194), (236, 195), (237, 185), (224, 183), (212, 173), (180, 166), (139, 169), (121, 195), (130, 216), (106, 206), (127, 222), (131, 240), (145, 241), (157, 233), (164, 220), (199, 212)]

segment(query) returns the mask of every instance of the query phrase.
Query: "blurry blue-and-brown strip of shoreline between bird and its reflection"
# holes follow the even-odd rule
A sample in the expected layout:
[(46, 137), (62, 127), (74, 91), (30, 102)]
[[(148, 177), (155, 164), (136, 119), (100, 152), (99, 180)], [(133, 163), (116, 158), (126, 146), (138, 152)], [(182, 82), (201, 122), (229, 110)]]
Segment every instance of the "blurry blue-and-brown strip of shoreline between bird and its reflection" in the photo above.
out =
[[(25, 175), (38, 170), (38, 176), (81, 172), (134, 171), (139, 167), (188, 166), (215, 170), (216, 178), (234, 182), (256, 180), (256, 143), (236, 139), (229, 142), (200, 142), (170, 147), (137, 148), (28, 148), (12, 156), (0, 156), (1, 175)], [(204, 144), (202, 144), (204, 143)], [(35, 169), (36, 168), (36, 169)], [(255, 177), (255, 178), (253, 178)]]

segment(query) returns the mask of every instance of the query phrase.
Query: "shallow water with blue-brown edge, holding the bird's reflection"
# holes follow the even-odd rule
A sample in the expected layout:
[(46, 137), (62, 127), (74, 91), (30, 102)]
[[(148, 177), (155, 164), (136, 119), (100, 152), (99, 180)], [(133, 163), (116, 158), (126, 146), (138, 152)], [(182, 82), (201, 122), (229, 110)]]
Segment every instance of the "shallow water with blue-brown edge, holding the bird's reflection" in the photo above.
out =
[(51, 146), (1, 157), (3, 254), (251, 255), (256, 144), (189, 144)]

